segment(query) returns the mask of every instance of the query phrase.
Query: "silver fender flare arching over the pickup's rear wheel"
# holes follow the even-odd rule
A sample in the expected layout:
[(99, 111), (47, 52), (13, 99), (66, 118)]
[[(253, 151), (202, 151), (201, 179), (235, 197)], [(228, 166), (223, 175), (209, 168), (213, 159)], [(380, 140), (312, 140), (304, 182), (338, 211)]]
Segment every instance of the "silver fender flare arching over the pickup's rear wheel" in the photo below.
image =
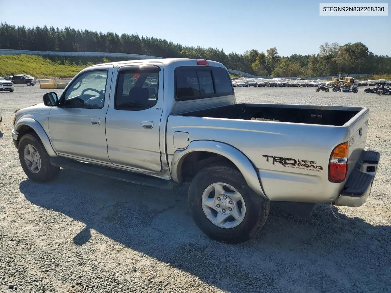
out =
[(182, 163), (185, 157), (191, 152), (210, 152), (218, 155), (222, 155), (230, 160), (242, 173), (244, 179), (246, 180), (248, 186), (253, 189), (257, 194), (266, 197), (258, 174), (255, 171), (253, 164), (246, 155), (244, 155), (237, 148), (232, 147), (226, 143), (221, 143), (219, 141), (210, 141), (210, 140), (196, 140), (190, 142), (188, 148), (185, 150), (177, 150), (172, 156), (171, 161), (171, 177), (175, 182), (181, 182), (181, 168)]

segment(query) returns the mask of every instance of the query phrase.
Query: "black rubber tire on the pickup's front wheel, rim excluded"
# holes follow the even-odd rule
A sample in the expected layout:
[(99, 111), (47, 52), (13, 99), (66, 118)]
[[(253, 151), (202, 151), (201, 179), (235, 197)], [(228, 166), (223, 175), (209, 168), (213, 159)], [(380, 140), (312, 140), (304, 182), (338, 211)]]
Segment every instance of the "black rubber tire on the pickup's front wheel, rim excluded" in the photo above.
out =
[[(32, 145), (38, 151), (41, 168), (38, 173), (30, 171), (24, 159), (24, 150), (27, 145)], [(18, 145), (19, 161), (22, 165), (23, 171), (35, 182), (47, 182), (57, 177), (60, 167), (50, 164), (50, 157), (43, 146), (41, 139), (39, 139), (36, 133), (29, 133), (22, 136)]]

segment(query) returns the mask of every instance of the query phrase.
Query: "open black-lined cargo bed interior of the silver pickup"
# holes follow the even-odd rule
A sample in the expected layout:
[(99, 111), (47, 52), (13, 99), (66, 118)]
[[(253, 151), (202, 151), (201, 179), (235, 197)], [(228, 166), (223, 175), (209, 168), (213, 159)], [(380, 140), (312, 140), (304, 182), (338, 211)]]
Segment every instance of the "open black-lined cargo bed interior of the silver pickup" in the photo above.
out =
[(342, 126), (362, 109), (362, 107), (242, 103), (181, 113), (179, 115), (239, 120), (266, 118), (281, 122)]

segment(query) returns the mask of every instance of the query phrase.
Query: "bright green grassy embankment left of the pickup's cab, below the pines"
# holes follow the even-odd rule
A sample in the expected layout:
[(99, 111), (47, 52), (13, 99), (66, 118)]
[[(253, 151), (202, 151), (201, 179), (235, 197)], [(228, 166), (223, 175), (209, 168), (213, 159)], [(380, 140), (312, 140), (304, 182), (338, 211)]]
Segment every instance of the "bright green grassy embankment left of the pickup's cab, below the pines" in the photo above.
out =
[(69, 78), (90, 64), (75, 64), (67, 60), (51, 61), (37, 55), (0, 55), (0, 76), (29, 74), (36, 79)]

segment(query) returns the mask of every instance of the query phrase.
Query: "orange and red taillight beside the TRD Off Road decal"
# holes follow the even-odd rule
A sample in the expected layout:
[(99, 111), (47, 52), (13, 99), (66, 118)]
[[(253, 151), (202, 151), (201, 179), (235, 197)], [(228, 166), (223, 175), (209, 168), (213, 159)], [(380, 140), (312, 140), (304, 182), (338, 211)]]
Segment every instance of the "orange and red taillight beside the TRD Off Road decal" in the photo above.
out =
[(328, 165), (328, 180), (331, 182), (342, 182), (348, 173), (349, 144), (341, 143), (337, 145), (330, 157)]

